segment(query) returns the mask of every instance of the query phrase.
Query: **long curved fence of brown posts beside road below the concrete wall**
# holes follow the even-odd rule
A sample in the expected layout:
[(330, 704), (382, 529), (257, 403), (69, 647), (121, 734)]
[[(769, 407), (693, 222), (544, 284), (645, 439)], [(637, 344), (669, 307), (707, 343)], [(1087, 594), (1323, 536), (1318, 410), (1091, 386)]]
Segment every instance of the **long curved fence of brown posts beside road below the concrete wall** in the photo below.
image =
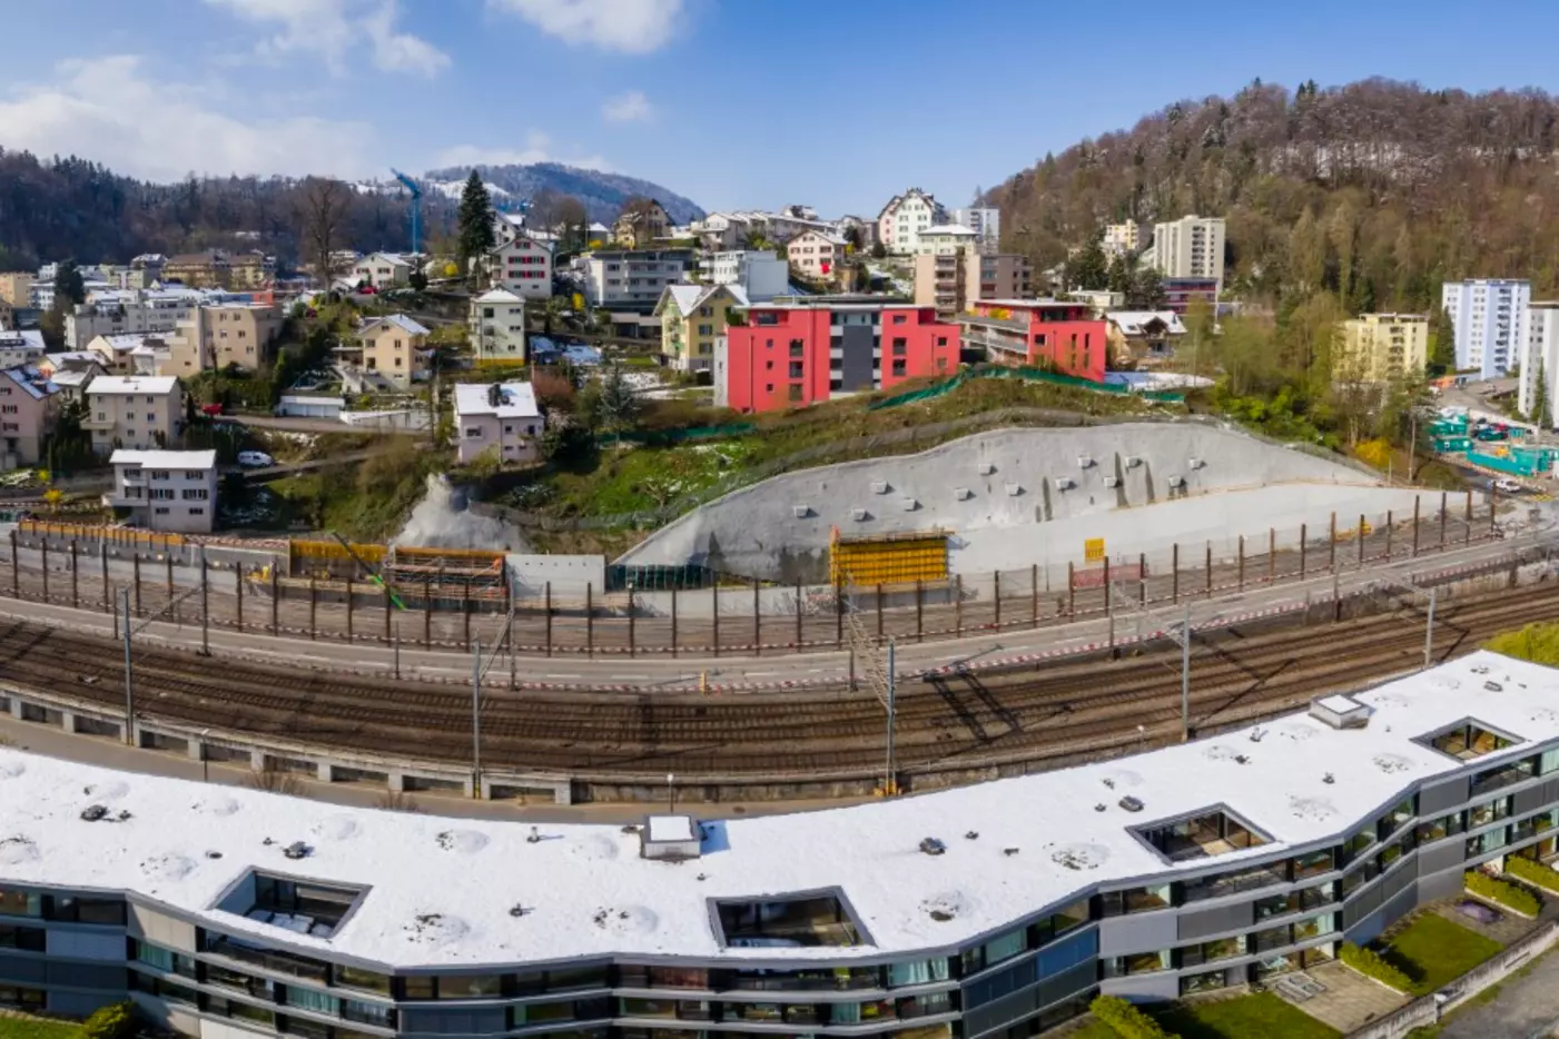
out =
[[(1306, 581), (1411, 559), (1498, 537), (1494, 512), (1470, 495), (1398, 517), (1336, 517), (1320, 530), (1271, 530), (1264, 539), (1210, 542), (1155, 553), (1113, 553), (1091, 565), (1030, 565), (942, 581), (775, 586), (725, 583), (683, 590), (560, 595), (550, 583), (524, 587), (469, 575), (424, 575), (391, 589), (366, 573), (329, 579), (285, 576), (278, 567), (212, 561), (178, 567), (140, 558), (109, 567), (106, 555), (50, 553), (23, 562), (16, 541), (0, 595), (80, 609), (251, 634), (335, 642), (468, 648), (507, 637), (535, 656), (764, 656), (847, 648), (845, 614), (876, 642), (924, 642), (1112, 617), (1161, 626), (1154, 612), (1214, 595)], [(0, 561), (5, 561), (0, 553)], [(399, 604), (396, 603), (399, 600)]]

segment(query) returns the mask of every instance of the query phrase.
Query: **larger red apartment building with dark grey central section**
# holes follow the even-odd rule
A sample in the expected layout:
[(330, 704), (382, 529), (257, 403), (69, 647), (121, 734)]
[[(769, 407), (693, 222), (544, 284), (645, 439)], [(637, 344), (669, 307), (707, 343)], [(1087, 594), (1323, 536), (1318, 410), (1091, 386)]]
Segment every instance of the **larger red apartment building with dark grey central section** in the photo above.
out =
[(726, 330), (714, 347), (714, 399), (747, 413), (804, 408), (957, 366), (959, 326), (937, 321), (935, 307), (804, 296), (755, 305)]

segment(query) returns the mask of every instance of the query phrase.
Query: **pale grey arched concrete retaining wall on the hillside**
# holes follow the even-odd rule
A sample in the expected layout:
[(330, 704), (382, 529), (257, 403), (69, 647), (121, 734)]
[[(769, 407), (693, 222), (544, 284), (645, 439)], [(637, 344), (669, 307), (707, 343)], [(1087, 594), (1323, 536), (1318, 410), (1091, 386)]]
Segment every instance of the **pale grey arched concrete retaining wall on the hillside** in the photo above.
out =
[[(1274, 497), (1277, 488), (1286, 489)], [(1161, 537), (1190, 541), (1297, 528), (1296, 509), (1356, 516), (1405, 503), (1411, 512), (1411, 492), (1366, 494), (1378, 488), (1347, 466), (1193, 424), (999, 430), (920, 455), (773, 477), (694, 509), (619, 562), (692, 562), (817, 583), (826, 581), (837, 527), (845, 534), (949, 530), (956, 570), (1065, 565), (1082, 561), (1082, 537), (1098, 530), (1115, 530), (1143, 551), (1157, 547), (1149, 542), (1160, 527)], [(1227, 497), (1235, 491), (1260, 494)], [(1147, 506), (1158, 508), (1141, 511)]]

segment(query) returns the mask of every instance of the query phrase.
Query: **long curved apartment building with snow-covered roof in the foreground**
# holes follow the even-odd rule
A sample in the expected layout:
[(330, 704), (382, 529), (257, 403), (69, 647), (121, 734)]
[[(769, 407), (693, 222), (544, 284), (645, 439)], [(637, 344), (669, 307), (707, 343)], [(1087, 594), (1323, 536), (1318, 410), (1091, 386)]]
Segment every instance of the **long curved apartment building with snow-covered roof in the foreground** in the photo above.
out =
[(1554, 855), (1556, 693), (1475, 653), (1126, 759), (633, 832), (0, 748), (5, 991), (204, 1039), (1029, 1036), (1272, 983)]

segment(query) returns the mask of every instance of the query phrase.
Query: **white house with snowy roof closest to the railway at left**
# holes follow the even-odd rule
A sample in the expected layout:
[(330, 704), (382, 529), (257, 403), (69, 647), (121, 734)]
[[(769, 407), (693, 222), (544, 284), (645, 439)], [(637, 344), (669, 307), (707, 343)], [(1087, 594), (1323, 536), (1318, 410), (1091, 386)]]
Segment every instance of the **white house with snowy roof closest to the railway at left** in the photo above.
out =
[(168, 534), (209, 534), (217, 523), (217, 452), (129, 450), (109, 455), (114, 489), (103, 503)]

